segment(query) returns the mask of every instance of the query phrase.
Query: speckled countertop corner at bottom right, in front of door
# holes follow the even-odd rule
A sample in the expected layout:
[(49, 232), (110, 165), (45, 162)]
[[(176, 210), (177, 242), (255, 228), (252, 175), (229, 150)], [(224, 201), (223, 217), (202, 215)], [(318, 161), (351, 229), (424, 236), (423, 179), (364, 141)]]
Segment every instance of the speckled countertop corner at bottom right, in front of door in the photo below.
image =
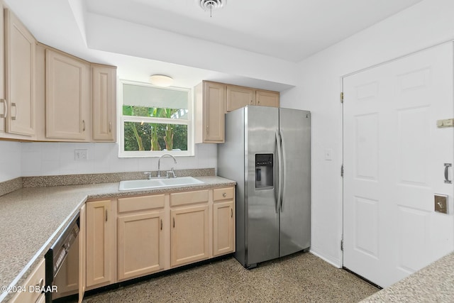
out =
[(454, 252), (361, 302), (454, 302)]

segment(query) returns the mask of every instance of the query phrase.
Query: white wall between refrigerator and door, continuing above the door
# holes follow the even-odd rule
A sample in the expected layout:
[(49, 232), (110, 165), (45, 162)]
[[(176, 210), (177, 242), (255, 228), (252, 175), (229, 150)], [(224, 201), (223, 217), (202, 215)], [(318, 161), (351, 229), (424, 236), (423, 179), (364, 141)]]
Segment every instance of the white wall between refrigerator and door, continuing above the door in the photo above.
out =
[[(341, 77), (453, 40), (453, 11), (452, 0), (422, 1), (304, 60), (297, 87), (281, 94), (281, 106), (312, 112), (311, 251), (334, 265), (342, 265)], [(324, 160), (326, 148), (333, 160)]]

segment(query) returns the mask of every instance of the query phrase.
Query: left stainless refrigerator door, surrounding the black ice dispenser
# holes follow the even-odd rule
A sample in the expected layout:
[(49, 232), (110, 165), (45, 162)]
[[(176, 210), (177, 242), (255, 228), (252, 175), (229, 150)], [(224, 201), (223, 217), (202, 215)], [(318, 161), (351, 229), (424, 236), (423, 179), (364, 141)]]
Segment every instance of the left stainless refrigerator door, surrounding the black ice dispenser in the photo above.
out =
[[(277, 144), (279, 109), (267, 106), (245, 108), (247, 263), (254, 265), (279, 257), (279, 214), (277, 209)], [(271, 154), (275, 159), (272, 187), (257, 187), (255, 155)]]

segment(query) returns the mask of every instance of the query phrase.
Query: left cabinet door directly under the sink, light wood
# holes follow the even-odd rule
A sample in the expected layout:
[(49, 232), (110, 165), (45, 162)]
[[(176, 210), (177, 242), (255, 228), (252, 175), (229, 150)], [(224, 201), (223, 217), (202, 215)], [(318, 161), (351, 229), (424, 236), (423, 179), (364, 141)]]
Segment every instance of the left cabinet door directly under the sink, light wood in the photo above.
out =
[(118, 280), (164, 269), (163, 220), (164, 211), (118, 216)]

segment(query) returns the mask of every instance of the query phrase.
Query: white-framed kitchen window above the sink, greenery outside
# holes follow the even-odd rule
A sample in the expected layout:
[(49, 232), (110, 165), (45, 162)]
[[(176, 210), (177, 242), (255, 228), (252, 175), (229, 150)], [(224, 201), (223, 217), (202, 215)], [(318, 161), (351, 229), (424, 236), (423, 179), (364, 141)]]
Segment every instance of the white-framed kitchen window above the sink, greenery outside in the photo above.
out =
[(191, 89), (120, 80), (120, 157), (194, 155)]

